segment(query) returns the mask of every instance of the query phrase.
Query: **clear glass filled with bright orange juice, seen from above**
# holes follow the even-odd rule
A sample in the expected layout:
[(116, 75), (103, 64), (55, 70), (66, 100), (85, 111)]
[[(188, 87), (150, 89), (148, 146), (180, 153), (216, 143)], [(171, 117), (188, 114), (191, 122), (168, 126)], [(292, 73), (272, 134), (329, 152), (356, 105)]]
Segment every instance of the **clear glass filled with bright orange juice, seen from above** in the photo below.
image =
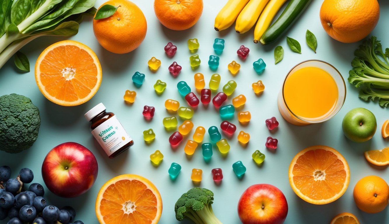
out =
[(308, 60), (286, 75), (278, 108), (287, 122), (304, 126), (333, 117), (345, 98), (346, 86), (339, 71), (325, 61)]

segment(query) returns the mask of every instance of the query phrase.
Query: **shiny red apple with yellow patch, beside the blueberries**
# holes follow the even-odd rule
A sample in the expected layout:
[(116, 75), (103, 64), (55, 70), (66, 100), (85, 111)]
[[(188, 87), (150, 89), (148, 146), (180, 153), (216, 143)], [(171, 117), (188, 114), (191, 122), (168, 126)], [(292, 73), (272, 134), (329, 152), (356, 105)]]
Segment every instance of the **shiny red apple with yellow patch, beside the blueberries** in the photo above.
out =
[(88, 191), (95, 183), (97, 171), (93, 153), (75, 142), (57, 145), (42, 164), (47, 188), (63, 198), (74, 198)]

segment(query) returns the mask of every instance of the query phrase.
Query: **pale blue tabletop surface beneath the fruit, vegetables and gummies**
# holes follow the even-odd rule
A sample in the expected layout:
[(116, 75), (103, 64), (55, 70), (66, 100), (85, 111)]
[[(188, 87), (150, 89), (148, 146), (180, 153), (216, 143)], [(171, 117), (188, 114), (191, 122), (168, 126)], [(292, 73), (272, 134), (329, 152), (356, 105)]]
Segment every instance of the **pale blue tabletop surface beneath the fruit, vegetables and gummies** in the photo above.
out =
[[(103, 2), (103, 0), (97, 0), (96, 7)], [(286, 36), (282, 37), (277, 43), (264, 47), (252, 42), (253, 29), (241, 35), (235, 33), (233, 27), (219, 33), (214, 31), (214, 18), (226, 0), (205, 0), (203, 14), (198, 23), (191, 29), (181, 32), (168, 30), (159, 23), (154, 14), (151, 0), (133, 0), (133, 2), (144, 12), (148, 26), (143, 44), (135, 51), (128, 54), (113, 54), (100, 47), (93, 35), (91, 18), (86, 18), (80, 26), (79, 33), (70, 38), (91, 47), (102, 65), (102, 84), (96, 95), (88, 102), (76, 107), (56, 105), (46, 100), (35, 84), (34, 66), (37, 57), (47, 46), (64, 38), (38, 38), (21, 49), (30, 59), (31, 72), (29, 73), (18, 72), (13, 64), (13, 59), (1, 68), (0, 95), (18, 93), (31, 98), (33, 103), (40, 109), (42, 124), (39, 138), (30, 149), (20, 154), (0, 152), (0, 165), (11, 166), (13, 176), (16, 176), (20, 168), (29, 167), (35, 174), (34, 182), (43, 184), (40, 169), (47, 152), (63, 142), (78, 142), (86, 146), (95, 154), (99, 165), (98, 177), (93, 187), (86, 194), (73, 199), (59, 198), (46, 189), (46, 198), (52, 204), (58, 207), (63, 205), (75, 207), (77, 219), (81, 219), (86, 224), (97, 223), (95, 199), (100, 187), (112, 177), (124, 173), (138, 174), (151, 180), (159, 189), (163, 200), (163, 213), (159, 223), (178, 223), (174, 217), (174, 203), (182, 193), (194, 187), (190, 179), (192, 168), (203, 170), (203, 180), (200, 187), (206, 187), (214, 191), (214, 212), (224, 224), (240, 223), (237, 215), (237, 203), (240, 195), (247, 187), (258, 183), (273, 184), (285, 194), (289, 205), (289, 213), (285, 222), (287, 224), (327, 224), (332, 217), (341, 212), (355, 214), (359, 221), (364, 224), (389, 223), (388, 208), (378, 214), (366, 214), (356, 207), (352, 198), (353, 188), (362, 177), (378, 175), (389, 182), (387, 167), (373, 167), (363, 156), (363, 152), (366, 150), (382, 149), (389, 146), (388, 141), (383, 140), (380, 134), (383, 122), (389, 119), (387, 108), (380, 108), (378, 103), (366, 103), (360, 100), (357, 96), (357, 90), (348, 83), (347, 97), (343, 108), (335, 117), (325, 123), (296, 127), (284, 121), (277, 108), (277, 95), (286, 73), (292, 66), (301, 61), (307, 59), (327, 61), (335, 66), (342, 73), (343, 78), (347, 80), (348, 71), (351, 69), (350, 62), (354, 57), (353, 52), (361, 42), (342, 44), (331, 39), (324, 32), (319, 20), (322, 1), (312, 1), (306, 12), (287, 32), (287, 36), (300, 42), (302, 54), (293, 53), (289, 49), (286, 44)], [(389, 3), (385, 0), (380, 0), (379, 3), (381, 17), (371, 34), (377, 36), (384, 47), (389, 47), (389, 31), (387, 29)], [(317, 54), (310, 50), (305, 42), (305, 31), (307, 29), (317, 37)], [(200, 55), (202, 63), (196, 71), (192, 71), (189, 66), (189, 56), (191, 54), (187, 49), (187, 39), (192, 38), (197, 38), (200, 43), (200, 49), (197, 53)], [(177, 82), (184, 80), (194, 89), (193, 75), (201, 72), (204, 74), (206, 86), (208, 86), (210, 76), (215, 73), (207, 65), (209, 55), (215, 54), (212, 49), (215, 38), (226, 40), (225, 49), (220, 56), (220, 66), (216, 72), (222, 77), (219, 90), (228, 80), (235, 80), (238, 87), (234, 94), (229, 97), (228, 103), (231, 103), (231, 99), (238, 94), (244, 94), (247, 97), (247, 103), (243, 110), (251, 112), (252, 120), (248, 126), (242, 126), (238, 123), (235, 115), (232, 122), (237, 125), (237, 132), (231, 139), (228, 139), (231, 145), (228, 157), (222, 158), (216, 147), (214, 147), (212, 161), (206, 164), (203, 161), (200, 147), (191, 159), (188, 159), (184, 154), (183, 147), (186, 140), (193, 135), (194, 129), (188, 137), (184, 138), (177, 151), (173, 151), (168, 144), (168, 137), (172, 132), (165, 131), (162, 119), (163, 117), (172, 116), (164, 108), (166, 99), (179, 100), (182, 106), (187, 105), (186, 101), (177, 92)], [(163, 47), (169, 41), (178, 47), (173, 58), (168, 58), (163, 50)], [(250, 49), (246, 61), (242, 61), (236, 54), (237, 49), (242, 44)], [(274, 65), (273, 49), (277, 45), (284, 48), (285, 54), (284, 59)], [(147, 61), (152, 56), (162, 61), (162, 65), (156, 73), (150, 72), (147, 67)], [(259, 58), (263, 58), (267, 64), (262, 75), (257, 75), (252, 68), (252, 62)], [(237, 61), (242, 66), (236, 77), (232, 77), (227, 70), (227, 65), (232, 60)], [(168, 66), (173, 61), (177, 61), (182, 66), (182, 71), (177, 79), (174, 79), (168, 72)], [(131, 77), (136, 71), (146, 75), (145, 82), (139, 89), (131, 81)], [(158, 79), (167, 83), (167, 88), (161, 96), (157, 96), (153, 89), (153, 85)], [(256, 96), (251, 89), (251, 84), (258, 80), (262, 80), (266, 86), (265, 92), (261, 96)], [(137, 97), (133, 105), (127, 105), (123, 101), (126, 89), (137, 91)], [(112, 111), (117, 115), (135, 141), (135, 145), (129, 151), (114, 159), (109, 159), (105, 155), (89, 133), (89, 123), (84, 119), (84, 113), (100, 102), (107, 107), (107, 111)], [(142, 116), (144, 105), (156, 108), (155, 116), (150, 122), (145, 121)], [(377, 118), (377, 133), (372, 140), (365, 143), (350, 142), (342, 133), (341, 122), (343, 116), (355, 107), (367, 108)], [(269, 132), (265, 126), (265, 119), (272, 116), (277, 117), (280, 124), (277, 131)], [(201, 125), (206, 129), (212, 125), (219, 127), (221, 123), (219, 113), (214, 110), (212, 104), (209, 107), (203, 107), (200, 104), (192, 121), (195, 128)], [(179, 123), (181, 122), (182, 120), (179, 119)], [(143, 140), (142, 132), (149, 128), (154, 129), (156, 139), (152, 144), (147, 145)], [(244, 130), (251, 135), (247, 147), (242, 147), (237, 142), (237, 134), (240, 130)], [(265, 148), (265, 140), (268, 136), (279, 140), (275, 153)], [(205, 142), (207, 141), (209, 141), (208, 134), (205, 138)], [(350, 166), (349, 188), (340, 199), (328, 205), (311, 205), (301, 200), (294, 194), (289, 185), (288, 167), (291, 159), (296, 153), (311, 145), (328, 145), (335, 148), (342, 153)], [(158, 168), (152, 166), (149, 159), (149, 155), (157, 149), (165, 156)], [(257, 166), (251, 159), (251, 154), (257, 149), (266, 155), (265, 162), (261, 167)], [(238, 160), (241, 160), (247, 167), (247, 172), (242, 180), (237, 179), (231, 167)], [(182, 166), (181, 173), (175, 182), (169, 179), (167, 173), (172, 162), (179, 163)], [(211, 175), (212, 168), (223, 169), (224, 179), (221, 186), (214, 184)], [(2, 221), (1, 223), (5, 222)], [(183, 223), (189, 222), (185, 221)]]

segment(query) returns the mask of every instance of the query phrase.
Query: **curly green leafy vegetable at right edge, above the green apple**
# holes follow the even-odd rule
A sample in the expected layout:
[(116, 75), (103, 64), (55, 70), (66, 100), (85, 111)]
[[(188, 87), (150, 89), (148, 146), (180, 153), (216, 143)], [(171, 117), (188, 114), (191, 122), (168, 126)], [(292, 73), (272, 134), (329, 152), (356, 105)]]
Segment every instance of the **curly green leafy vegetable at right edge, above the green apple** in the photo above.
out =
[(364, 40), (354, 52), (349, 82), (360, 88), (359, 98), (378, 100), (381, 107), (389, 105), (389, 48), (382, 51), (377, 37)]

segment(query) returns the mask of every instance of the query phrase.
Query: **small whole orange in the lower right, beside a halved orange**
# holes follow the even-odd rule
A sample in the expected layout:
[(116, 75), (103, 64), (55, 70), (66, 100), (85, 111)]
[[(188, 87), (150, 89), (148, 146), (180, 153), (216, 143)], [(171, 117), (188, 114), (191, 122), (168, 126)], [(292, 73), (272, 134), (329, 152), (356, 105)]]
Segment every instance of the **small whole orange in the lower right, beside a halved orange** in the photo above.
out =
[(381, 177), (367, 176), (357, 182), (353, 194), (359, 209), (367, 213), (377, 213), (388, 205), (389, 186)]

